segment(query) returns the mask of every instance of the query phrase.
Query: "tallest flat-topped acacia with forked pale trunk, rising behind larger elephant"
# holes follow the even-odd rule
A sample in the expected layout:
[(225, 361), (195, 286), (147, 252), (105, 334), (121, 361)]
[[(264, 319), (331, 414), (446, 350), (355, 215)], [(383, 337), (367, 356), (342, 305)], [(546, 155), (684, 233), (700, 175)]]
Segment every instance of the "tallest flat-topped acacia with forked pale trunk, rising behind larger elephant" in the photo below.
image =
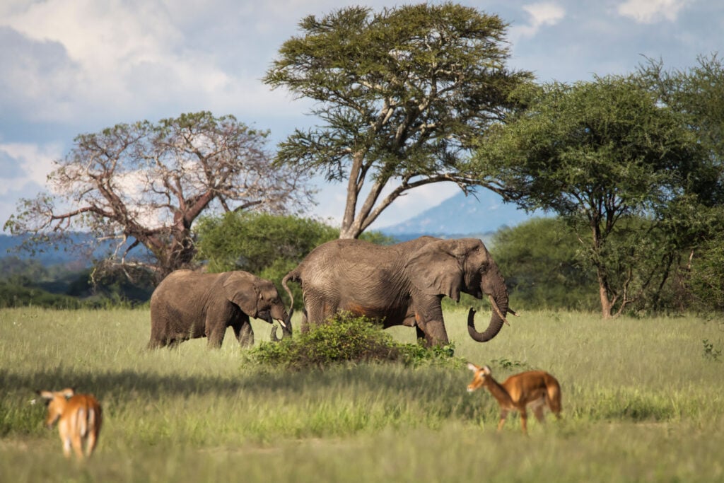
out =
[(448, 181), (467, 193), (480, 184), (467, 172), (470, 142), (531, 78), (505, 67), (500, 17), (420, 4), (347, 7), (299, 25), (303, 35), (282, 45), (264, 82), (315, 101), (321, 125), (295, 130), (277, 162), (347, 181), (340, 238), (358, 238), (413, 188)]

